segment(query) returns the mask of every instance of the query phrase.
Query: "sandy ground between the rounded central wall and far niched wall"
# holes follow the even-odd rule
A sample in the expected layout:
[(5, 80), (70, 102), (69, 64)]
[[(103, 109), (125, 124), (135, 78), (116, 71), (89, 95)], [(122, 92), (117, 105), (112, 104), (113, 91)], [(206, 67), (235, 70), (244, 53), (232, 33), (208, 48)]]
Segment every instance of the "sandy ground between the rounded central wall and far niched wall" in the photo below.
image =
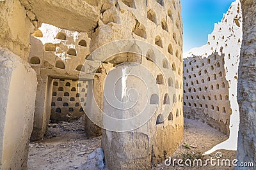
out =
[[(188, 156), (194, 155), (195, 153), (197, 153), (196, 155), (200, 155), (200, 153), (207, 152), (213, 146), (225, 141), (226, 139), (228, 139), (228, 136), (226, 136), (225, 134), (222, 134), (216, 129), (213, 129), (209, 125), (200, 122), (200, 120), (191, 120), (188, 118), (184, 118), (184, 138), (179, 148), (177, 148), (177, 150), (173, 153), (172, 160), (184, 159), (184, 155), (186, 155), (185, 158), (187, 158)], [(189, 146), (189, 148), (186, 146)], [(221, 152), (222, 154), (222, 157), (220, 158), (220, 165), (221, 165), (222, 159), (230, 159), (231, 161), (233, 159), (236, 159), (236, 151), (227, 151), (227, 150), (218, 150), (214, 153), (211, 153), (210, 155), (202, 155), (202, 157), (199, 156), (197, 157), (197, 159), (198, 158), (202, 159), (204, 164), (205, 160), (211, 159), (211, 157), (212, 159), (217, 159), (216, 153), (218, 152)], [(175, 170), (178, 170), (178, 169), (205, 169), (205, 170), (234, 169), (234, 167), (232, 166), (225, 167), (225, 166), (217, 166), (217, 165), (218, 164), (216, 164), (216, 166), (211, 166), (209, 162), (208, 166), (180, 167), (177, 164), (175, 164), (175, 166), (172, 166), (172, 164), (170, 166), (165, 166), (163, 163), (153, 169), (175, 169)]]

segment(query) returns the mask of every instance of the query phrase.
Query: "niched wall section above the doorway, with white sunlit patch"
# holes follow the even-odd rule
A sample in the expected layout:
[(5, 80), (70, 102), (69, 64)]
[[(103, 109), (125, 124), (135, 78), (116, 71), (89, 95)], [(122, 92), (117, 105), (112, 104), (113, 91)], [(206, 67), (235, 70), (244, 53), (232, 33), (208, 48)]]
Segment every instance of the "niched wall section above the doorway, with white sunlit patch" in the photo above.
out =
[(30, 43), (28, 62), (36, 71), (46, 69), (40, 74), (77, 77), (90, 54), (90, 38), (86, 33), (68, 31), (48, 24), (42, 24), (32, 34)]

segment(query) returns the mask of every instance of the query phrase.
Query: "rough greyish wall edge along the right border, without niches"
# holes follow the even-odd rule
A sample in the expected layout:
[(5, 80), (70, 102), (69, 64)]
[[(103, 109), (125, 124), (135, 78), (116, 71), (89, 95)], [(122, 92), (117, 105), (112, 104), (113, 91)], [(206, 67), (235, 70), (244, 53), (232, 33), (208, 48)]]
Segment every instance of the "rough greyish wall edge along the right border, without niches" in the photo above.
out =
[[(240, 111), (237, 159), (240, 162), (256, 162), (256, 1), (241, 0), (243, 10), (243, 42), (239, 64), (237, 101)], [(236, 167), (236, 169), (241, 169)], [(243, 167), (255, 169), (255, 167)]]

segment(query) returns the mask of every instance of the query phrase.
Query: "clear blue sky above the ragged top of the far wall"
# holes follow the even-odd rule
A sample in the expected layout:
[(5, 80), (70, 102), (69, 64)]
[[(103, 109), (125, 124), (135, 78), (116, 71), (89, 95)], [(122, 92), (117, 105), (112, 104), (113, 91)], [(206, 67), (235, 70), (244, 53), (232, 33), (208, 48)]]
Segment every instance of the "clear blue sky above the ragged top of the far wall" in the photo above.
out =
[(235, 0), (181, 0), (183, 52), (205, 45), (214, 23), (220, 22)]

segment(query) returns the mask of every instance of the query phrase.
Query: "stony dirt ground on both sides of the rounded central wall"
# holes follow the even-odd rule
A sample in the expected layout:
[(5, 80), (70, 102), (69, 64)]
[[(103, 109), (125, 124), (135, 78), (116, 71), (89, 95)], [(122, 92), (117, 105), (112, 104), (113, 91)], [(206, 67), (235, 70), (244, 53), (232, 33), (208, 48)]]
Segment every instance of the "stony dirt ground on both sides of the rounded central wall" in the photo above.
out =
[[(89, 139), (84, 133), (83, 117), (75, 122), (62, 122), (61, 124), (49, 124), (47, 138), (36, 143), (29, 144), (28, 169), (88, 169), (87, 156), (100, 147), (101, 138)], [(184, 139), (172, 159), (188, 158), (194, 153), (204, 153), (213, 146), (225, 141), (227, 136), (221, 132), (203, 124), (199, 120), (184, 120)], [(236, 152), (220, 150), (221, 159), (235, 159)], [(211, 155), (200, 155), (206, 160), (216, 159), (216, 152)], [(182, 155), (184, 154), (184, 155)], [(203, 161), (204, 161), (203, 160)], [(90, 168), (91, 169), (91, 168)], [(155, 169), (234, 169), (234, 167), (173, 167), (165, 166), (164, 162)]]

